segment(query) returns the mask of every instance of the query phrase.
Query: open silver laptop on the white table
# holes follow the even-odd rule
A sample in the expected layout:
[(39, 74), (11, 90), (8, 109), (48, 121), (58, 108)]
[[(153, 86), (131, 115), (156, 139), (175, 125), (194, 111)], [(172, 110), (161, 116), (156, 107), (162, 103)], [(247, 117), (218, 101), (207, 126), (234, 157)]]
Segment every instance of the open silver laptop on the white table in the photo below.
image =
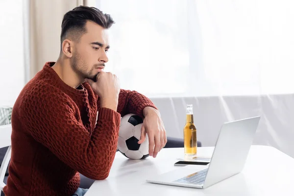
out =
[[(245, 165), (260, 117), (224, 123), (210, 164), (185, 166), (147, 179), (147, 182), (191, 188), (207, 188), (237, 173)], [(187, 169), (186, 169), (187, 168)]]

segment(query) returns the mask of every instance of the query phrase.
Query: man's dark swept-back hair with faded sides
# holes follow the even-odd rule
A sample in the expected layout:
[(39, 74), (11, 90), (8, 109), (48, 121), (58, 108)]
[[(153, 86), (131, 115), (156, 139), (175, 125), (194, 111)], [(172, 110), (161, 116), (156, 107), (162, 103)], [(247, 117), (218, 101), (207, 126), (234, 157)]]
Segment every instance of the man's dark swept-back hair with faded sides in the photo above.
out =
[[(109, 14), (103, 14), (96, 7), (78, 6), (67, 12), (62, 20), (61, 25), (61, 44), (68, 34), (71, 34), (73, 39), (79, 39), (86, 33), (86, 22), (93, 21), (103, 28), (110, 28), (114, 21)], [(73, 34), (72, 34), (73, 32)]]

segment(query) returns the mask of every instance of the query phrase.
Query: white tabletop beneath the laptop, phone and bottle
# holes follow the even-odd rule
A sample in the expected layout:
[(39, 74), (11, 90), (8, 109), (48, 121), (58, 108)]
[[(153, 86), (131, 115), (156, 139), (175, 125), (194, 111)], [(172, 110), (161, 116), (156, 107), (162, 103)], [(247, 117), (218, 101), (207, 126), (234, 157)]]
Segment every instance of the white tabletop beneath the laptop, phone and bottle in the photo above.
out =
[[(198, 147), (198, 155), (211, 156), (213, 149)], [(252, 146), (241, 173), (206, 189), (146, 182), (153, 174), (179, 168), (173, 166), (177, 158), (183, 158), (183, 148), (164, 148), (156, 158), (145, 160), (130, 160), (117, 152), (109, 176), (95, 181), (85, 196), (294, 195), (294, 159), (273, 147)]]

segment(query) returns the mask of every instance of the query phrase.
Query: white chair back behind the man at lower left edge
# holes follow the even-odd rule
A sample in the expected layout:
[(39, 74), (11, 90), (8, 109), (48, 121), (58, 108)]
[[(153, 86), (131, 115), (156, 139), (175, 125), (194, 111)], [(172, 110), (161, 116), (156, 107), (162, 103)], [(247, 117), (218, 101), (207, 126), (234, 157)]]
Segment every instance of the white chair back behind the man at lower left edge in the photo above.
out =
[(4, 176), (11, 156), (11, 124), (0, 126), (0, 148), (8, 147), (0, 167), (0, 191), (3, 191)]

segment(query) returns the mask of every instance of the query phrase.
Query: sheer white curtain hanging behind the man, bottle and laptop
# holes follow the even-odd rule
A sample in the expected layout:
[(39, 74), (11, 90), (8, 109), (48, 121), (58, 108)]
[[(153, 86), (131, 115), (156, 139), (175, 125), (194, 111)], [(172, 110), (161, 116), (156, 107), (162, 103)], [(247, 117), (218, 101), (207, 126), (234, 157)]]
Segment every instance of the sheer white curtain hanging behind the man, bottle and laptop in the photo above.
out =
[(183, 137), (192, 103), (203, 146), (260, 115), (254, 144), (294, 157), (293, 0), (96, 2), (116, 22), (106, 70), (154, 101), (169, 136)]

